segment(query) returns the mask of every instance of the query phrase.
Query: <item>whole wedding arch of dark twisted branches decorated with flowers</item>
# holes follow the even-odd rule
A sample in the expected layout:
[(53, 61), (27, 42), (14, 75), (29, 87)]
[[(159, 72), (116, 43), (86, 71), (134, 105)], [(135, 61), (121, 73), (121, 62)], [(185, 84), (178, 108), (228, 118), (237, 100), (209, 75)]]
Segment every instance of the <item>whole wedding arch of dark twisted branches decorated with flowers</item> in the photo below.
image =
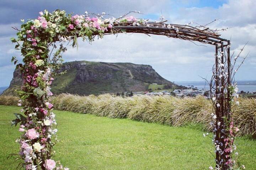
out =
[[(50, 85), (53, 80), (53, 71), (62, 64), (62, 53), (66, 48), (61, 44), (58, 49), (55, 42), (73, 41), (72, 46), (77, 45), (77, 40), (92, 42), (96, 36), (117, 33), (143, 33), (164, 35), (169, 38), (178, 38), (188, 41), (198, 41), (215, 47), (215, 64), (212, 68), (213, 76), (210, 81), (210, 92), (214, 111), (212, 113), (213, 143), (215, 145), (216, 168), (222, 170), (231, 169), (234, 161), (233, 142), (237, 128), (233, 125), (232, 110), (236, 87), (232, 85), (233, 65), (230, 56), (230, 41), (220, 38), (219, 30), (212, 30), (207, 25), (192, 26), (166, 24), (167, 21), (150, 21), (129, 16), (131, 12), (112, 19), (104, 19), (105, 13), (95, 15), (85, 12), (84, 15), (66, 15), (65, 11), (55, 10), (50, 13), (47, 10), (39, 12), (37, 19), (29, 19), (21, 25), (17, 38), (11, 38), (17, 43), (15, 49), (20, 50), (23, 56), (22, 63), (16, 57), (12, 62), (17, 64), (23, 75), (23, 86), (18, 94), (21, 98), (18, 106), (26, 101), (23, 107), (25, 116), (16, 114), (17, 119), (12, 124), (21, 123), (19, 131), (22, 131), (18, 142), (20, 143), (20, 164), (26, 170), (68, 170), (51, 159), (54, 154), (54, 137), (57, 129), (55, 115), (52, 112), (53, 104), (49, 103), (52, 96)], [(24, 21), (23, 21), (24, 22)]]

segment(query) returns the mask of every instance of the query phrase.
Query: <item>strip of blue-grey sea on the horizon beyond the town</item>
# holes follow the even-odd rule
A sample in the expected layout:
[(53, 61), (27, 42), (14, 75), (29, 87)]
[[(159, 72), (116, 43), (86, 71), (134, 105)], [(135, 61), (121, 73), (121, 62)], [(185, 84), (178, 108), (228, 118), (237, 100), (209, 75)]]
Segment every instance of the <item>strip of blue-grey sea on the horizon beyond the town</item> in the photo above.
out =
[[(238, 84), (239, 91), (244, 92), (256, 92), (256, 80), (243, 80), (243, 81), (236, 81)], [(199, 90), (205, 89), (209, 90), (210, 86), (205, 81), (175, 81), (177, 85), (182, 86), (191, 86), (197, 87)]]

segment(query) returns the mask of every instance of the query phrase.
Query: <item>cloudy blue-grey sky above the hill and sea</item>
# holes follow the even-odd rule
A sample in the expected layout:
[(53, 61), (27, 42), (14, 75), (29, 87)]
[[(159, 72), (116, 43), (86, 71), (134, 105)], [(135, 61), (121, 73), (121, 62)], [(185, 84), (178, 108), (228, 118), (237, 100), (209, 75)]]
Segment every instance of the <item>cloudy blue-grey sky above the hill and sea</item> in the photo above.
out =
[[(20, 19), (37, 18), (38, 12), (47, 9), (65, 10), (82, 15), (106, 12), (121, 16), (129, 11), (140, 11), (139, 18), (158, 20), (163, 15), (167, 23), (206, 24), (209, 27), (229, 28), (222, 37), (231, 39), (231, 52), (238, 54), (248, 42), (242, 56), (249, 55), (236, 74), (236, 80), (256, 80), (256, 1), (255, 0), (1, 0), (0, 1), (0, 87), (9, 86), (15, 66), (12, 56), (22, 60), (20, 51), (10, 42), (16, 36), (12, 26), (20, 27)], [(197, 43), (198, 45), (201, 45)], [(210, 78), (214, 64), (215, 47), (197, 46), (190, 41), (147, 36), (145, 34), (106, 35), (92, 44), (79, 40), (78, 50), (68, 46), (64, 53), (68, 61), (131, 62), (149, 64), (162, 77), (170, 81), (201, 81)]]

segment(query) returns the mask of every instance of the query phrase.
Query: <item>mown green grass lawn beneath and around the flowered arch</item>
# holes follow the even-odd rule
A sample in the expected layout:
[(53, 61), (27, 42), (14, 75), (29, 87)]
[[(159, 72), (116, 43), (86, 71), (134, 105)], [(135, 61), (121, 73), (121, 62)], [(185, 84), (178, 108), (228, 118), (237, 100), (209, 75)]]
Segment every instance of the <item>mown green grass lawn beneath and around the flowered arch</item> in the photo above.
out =
[[(14, 170), (18, 162), (6, 159), (18, 152), (18, 127), (11, 127), (20, 108), (0, 106), (0, 170)], [(205, 170), (213, 166), (209, 137), (198, 126), (175, 128), (129, 119), (55, 111), (58, 139), (55, 160), (71, 170)], [(256, 140), (236, 141), (239, 163), (256, 167)], [(243, 153), (243, 154), (242, 154)]]

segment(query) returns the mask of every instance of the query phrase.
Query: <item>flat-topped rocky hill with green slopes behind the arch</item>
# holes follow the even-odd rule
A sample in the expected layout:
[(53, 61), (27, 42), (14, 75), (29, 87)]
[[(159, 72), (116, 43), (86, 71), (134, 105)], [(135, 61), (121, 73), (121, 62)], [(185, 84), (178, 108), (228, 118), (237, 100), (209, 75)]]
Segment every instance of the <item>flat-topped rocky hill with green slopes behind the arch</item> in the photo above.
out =
[[(67, 92), (89, 95), (144, 91), (152, 84), (176, 87), (174, 83), (156, 73), (150, 65), (144, 64), (74, 61), (64, 63), (60, 71), (65, 70), (65, 74), (54, 77), (54, 94)], [(12, 95), (14, 89), (21, 84), (21, 74), (15, 70), (10, 87), (3, 94)]]

